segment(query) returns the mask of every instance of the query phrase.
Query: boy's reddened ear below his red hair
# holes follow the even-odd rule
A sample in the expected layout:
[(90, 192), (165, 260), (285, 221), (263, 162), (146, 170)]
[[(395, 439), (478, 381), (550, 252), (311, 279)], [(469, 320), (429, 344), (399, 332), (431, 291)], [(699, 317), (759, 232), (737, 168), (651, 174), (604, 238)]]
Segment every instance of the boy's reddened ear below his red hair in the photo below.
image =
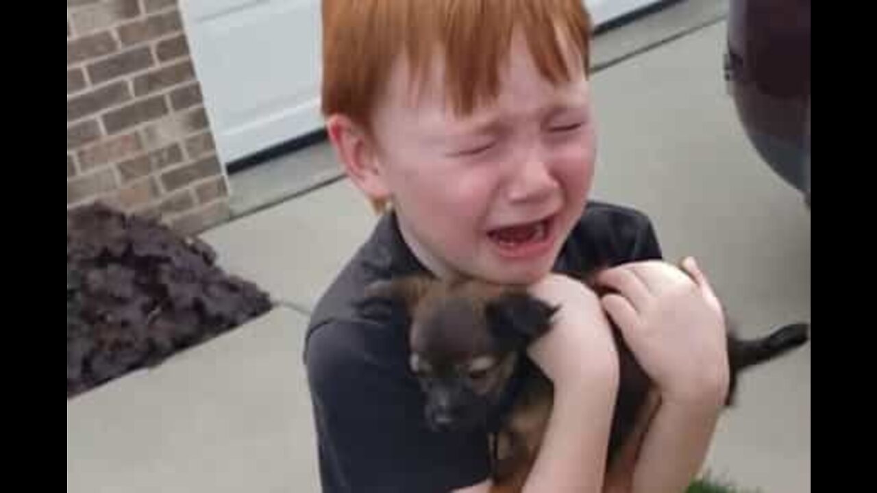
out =
[(389, 188), (378, 163), (375, 146), (362, 126), (346, 115), (326, 120), (326, 132), (350, 179), (373, 203), (389, 199)]

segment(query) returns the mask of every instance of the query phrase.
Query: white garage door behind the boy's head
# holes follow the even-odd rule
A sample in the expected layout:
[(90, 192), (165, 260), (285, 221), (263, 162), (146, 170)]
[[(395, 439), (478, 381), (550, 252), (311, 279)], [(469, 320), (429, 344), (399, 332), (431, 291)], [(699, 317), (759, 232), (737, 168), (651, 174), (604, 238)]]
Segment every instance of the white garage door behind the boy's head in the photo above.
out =
[[(657, 0), (585, 0), (602, 24)], [(226, 164), (322, 128), (319, 0), (181, 0)]]

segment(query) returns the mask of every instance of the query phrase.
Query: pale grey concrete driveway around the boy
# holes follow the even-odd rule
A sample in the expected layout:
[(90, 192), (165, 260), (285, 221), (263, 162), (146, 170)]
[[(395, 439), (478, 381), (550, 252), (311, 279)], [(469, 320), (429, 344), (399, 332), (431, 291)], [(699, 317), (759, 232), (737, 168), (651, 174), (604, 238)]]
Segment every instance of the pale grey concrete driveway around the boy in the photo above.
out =
[[(694, 254), (745, 333), (810, 318), (810, 218), (759, 160), (724, 92), (718, 24), (595, 76), (595, 196), (647, 211), (669, 259)], [(346, 181), (204, 235), (282, 306), (68, 402), (68, 491), (318, 491), (301, 363), (307, 314), (374, 217)], [(709, 469), (810, 491), (810, 349), (752, 370)]]

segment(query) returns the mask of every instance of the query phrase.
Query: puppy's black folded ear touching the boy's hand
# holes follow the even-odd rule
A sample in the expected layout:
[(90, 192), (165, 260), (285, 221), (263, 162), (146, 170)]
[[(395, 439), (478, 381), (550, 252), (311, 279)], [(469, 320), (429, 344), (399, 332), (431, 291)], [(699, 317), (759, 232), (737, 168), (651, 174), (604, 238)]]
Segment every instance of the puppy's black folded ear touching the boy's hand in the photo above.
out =
[(496, 339), (520, 348), (551, 328), (560, 307), (546, 304), (525, 291), (506, 291), (485, 304), (490, 332)]

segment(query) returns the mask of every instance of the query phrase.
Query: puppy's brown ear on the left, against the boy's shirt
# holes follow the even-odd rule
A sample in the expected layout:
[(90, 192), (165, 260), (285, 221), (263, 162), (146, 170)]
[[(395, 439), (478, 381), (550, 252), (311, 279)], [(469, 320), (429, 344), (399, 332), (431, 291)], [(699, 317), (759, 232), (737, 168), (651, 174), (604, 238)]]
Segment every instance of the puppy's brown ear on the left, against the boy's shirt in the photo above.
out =
[(431, 280), (423, 276), (382, 279), (369, 284), (354, 305), (366, 318), (408, 323), (430, 285)]

